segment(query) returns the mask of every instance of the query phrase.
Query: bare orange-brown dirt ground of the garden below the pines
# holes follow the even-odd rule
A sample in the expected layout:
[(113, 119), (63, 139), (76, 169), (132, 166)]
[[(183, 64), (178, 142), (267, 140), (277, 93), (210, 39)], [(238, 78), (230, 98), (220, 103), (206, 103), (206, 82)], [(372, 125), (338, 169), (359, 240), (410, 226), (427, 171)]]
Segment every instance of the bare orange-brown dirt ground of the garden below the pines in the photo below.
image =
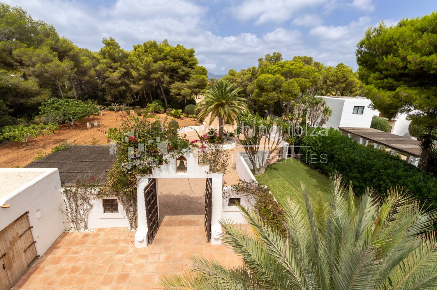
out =
[[(136, 114), (133, 113), (133, 115)], [(155, 114), (155, 116), (164, 120), (166, 114)], [(90, 117), (89, 121), (87, 119), (83, 119), (82, 122), (76, 121), (74, 127), (70, 124), (62, 124), (54, 135), (30, 137), (28, 146), (24, 146), (22, 142), (10, 142), (0, 147), (0, 167), (26, 166), (35, 157), (50, 153), (55, 145), (64, 141), (76, 142), (78, 145), (91, 145), (92, 142), (104, 145), (108, 140), (105, 131), (120, 126), (124, 118), (121, 112), (104, 111), (103, 116)], [(154, 117), (149, 120), (153, 121)], [(167, 121), (170, 120), (171, 117), (167, 119)], [(94, 121), (97, 121), (97, 126), (94, 126)], [(180, 118), (177, 121), (179, 127), (194, 126), (196, 123), (191, 118)], [(91, 123), (91, 128), (87, 128), (87, 122)]]

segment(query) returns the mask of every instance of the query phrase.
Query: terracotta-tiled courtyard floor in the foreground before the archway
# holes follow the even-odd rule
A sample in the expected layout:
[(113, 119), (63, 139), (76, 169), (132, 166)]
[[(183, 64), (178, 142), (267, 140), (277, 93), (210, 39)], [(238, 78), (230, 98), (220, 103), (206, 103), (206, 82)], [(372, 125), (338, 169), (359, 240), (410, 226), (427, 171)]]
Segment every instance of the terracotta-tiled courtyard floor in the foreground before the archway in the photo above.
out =
[(207, 244), (203, 225), (173, 226), (183, 217), (164, 219), (153, 244), (140, 249), (126, 228), (64, 233), (13, 289), (159, 289), (159, 278), (188, 269), (193, 254), (241, 262), (226, 246)]

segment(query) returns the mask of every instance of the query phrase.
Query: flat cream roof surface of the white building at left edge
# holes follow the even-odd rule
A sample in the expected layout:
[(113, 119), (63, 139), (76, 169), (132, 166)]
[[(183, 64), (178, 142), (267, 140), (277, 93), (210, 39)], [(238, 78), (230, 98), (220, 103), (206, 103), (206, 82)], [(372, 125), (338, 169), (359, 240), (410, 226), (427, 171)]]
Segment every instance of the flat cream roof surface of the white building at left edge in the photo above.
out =
[[(4, 169), (3, 169), (4, 170)], [(20, 171), (12, 169), (11, 171), (0, 171), (0, 198), (7, 196), (9, 193), (17, 190), (24, 184), (34, 180), (38, 176), (47, 173), (47, 171)]]

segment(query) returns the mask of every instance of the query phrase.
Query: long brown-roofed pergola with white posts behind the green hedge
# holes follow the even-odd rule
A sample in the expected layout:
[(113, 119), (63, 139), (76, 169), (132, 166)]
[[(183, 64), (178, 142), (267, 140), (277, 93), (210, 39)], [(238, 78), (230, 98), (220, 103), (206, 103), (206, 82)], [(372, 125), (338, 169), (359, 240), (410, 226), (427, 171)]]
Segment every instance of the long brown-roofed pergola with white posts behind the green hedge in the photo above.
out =
[(419, 141), (399, 135), (391, 134), (374, 128), (339, 127), (343, 135), (348, 135), (358, 143), (365, 146), (369, 141), (374, 143), (374, 148), (379, 149), (381, 145), (390, 148), (390, 153), (396, 155), (402, 152), (407, 155), (406, 161), (417, 166), (420, 160)]

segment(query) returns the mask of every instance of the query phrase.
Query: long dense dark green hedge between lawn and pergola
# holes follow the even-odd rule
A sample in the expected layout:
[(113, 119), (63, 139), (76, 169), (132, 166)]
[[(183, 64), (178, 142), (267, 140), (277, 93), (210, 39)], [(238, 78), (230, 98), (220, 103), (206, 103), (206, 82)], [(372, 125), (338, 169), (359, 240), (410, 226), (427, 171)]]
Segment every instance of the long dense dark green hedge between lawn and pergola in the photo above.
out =
[[(425, 207), (437, 209), (437, 178), (385, 150), (360, 145), (335, 129), (326, 136), (304, 136), (300, 145), (301, 158), (305, 161), (306, 156), (309, 166), (323, 173), (340, 172), (347, 184), (352, 181), (357, 194), (373, 187), (385, 195), (390, 187), (402, 186)], [(319, 158), (322, 154), (327, 161)]]

